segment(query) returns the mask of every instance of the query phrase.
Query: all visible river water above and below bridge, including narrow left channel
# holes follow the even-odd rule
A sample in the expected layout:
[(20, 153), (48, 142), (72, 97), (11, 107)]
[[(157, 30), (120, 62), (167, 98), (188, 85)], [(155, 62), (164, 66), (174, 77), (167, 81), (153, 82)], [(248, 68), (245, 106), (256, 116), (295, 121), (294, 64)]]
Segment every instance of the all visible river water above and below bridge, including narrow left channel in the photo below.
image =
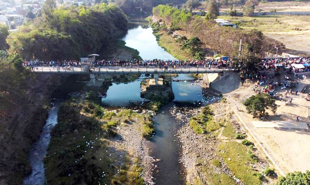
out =
[[(137, 49), (142, 59), (175, 59), (171, 54), (161, 48), (156, 37), (153, 35), (152, 28), (138, 26), (130, 29), (123, 38), (126, 46)], [(142, 79), (130, 83), (113, 83), (107, 91), (107, 95), (102, 98), (102, 102), (108, 106), (126, 106), (129, 103), (140, 103), (144, 99), (140, 97), (140, 83)], [(170, 114), (175, 102), (198, 102), (203, 100), (201, 87), (192, 83), (193, 78), (188, 74), (180, 74), (176, 77), (179, 81), (172, 81), (174, 100), (170, 104), (159, 110), (154, 117), (156, 135), (150, 142), (151, 155), (161, 159), (156, 165), (158, 170), (153, 174), (156, 184), (185, 184), (182, 165), (179, 163), (180, 148), (178, 140), (174, 136), (178, 126), (175, 118)], [(70, 85), (69, 85), (70, 86)], [(67, 91), (66, 91), (67, 92)], [(69, 91), (68, 91), (69, 92)], [(58, 93), (59, 94), (59, 93)], [(44, 155), (47, 152), (50, 141), (50, 132), (57, 124), (58, 104), (49, 111), (49, 116), (44, 126), (39, 140), (34, 143), (30, 152), (30, 162), (33, 168), (31, 175), (25, 178), (24, 185), (43, 185), (45, 183), (45, 169), (43, 164)]]

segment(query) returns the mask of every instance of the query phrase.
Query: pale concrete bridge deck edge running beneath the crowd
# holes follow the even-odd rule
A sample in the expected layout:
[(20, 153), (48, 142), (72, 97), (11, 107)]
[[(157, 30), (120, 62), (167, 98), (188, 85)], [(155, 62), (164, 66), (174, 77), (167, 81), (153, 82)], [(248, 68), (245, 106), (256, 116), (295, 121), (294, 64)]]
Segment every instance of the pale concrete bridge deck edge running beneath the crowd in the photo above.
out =
[(156, 67), (101, 67), (92, 69), (91, 72), (83, 71), (80, 67), (73, 67), (70, 70), (66, 68), (57, 68), (53, 67), (36, 67), (34, 68), (34, 72), (36, 73), (56, 73), (56, 74), (106, 74), (106, 73), (116, 73), (116, 74), (129, 74), (129, 73), (178, 73), (178, 74), (188, 74), (188, 73), (223, 73), (224, 71), (227, 72), (235, 72), (233, 69), (216, 69), (216, 68), (203, 68), (203, 67), (178, 67), (173, 70), (171, 67), (168, 70), (160, 70)]

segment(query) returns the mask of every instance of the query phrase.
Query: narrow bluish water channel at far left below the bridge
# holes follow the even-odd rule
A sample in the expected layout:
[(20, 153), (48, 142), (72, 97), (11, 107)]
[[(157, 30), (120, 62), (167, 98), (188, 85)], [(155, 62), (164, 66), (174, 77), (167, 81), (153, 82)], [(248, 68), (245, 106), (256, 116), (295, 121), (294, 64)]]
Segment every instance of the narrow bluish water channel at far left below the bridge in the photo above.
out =
[(51, 131), (57, 122), (57, 111), (59, 103), (56, 103), (50, 110), (49, 116), (43, 127), (43, 131), (38, 141), (30, 150), (29, 158), (32, 166), (32, 173), (24, 179), (24, 185), (43, 185), (45, 183), (45, 169), (43, 158), (47, 153), (47, 149), (51, 139)]

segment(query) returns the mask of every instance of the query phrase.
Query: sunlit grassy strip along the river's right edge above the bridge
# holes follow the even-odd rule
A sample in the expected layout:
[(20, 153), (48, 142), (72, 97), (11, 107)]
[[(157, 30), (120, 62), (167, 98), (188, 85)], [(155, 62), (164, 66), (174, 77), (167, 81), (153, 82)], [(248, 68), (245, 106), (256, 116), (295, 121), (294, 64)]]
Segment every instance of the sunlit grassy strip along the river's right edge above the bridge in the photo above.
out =
[(173, 39), (170, 35), (168, 35), (165, 31), (158, 31), (153, 33), (158, 41), (159, 46), (164, 48), (168, 53), (173, 55), (175, 58), (179, 60), (188, 60), (193, 58), (189, 53), (181, 50), (181, 46), (176, 43), (175, 39)]

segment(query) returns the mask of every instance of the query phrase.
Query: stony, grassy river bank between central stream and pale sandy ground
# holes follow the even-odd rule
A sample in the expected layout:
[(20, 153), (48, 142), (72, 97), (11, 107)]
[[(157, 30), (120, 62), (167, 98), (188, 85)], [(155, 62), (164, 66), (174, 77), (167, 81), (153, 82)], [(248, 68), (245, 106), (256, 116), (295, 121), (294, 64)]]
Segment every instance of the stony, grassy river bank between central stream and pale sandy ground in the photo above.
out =
[[(263, 169), (271, 165), (255, 147), (248, 148), (236, 139), (246, 132), (225, 102), (212, 103), (213, 117), (206, 133), (196, 133), (190, 126), (190, 117), (201, 108), (176, 108), (173, 115), (181, 125), (176, 137), (182, 150), (180, 162), (186, 169), (188, 184), (261, 184), (274, 183), (273, 178), (259, 179)], [(250, 136), (246, 139), (251, 140)], [(240, 157), (240, 158), (239, 158)]]

